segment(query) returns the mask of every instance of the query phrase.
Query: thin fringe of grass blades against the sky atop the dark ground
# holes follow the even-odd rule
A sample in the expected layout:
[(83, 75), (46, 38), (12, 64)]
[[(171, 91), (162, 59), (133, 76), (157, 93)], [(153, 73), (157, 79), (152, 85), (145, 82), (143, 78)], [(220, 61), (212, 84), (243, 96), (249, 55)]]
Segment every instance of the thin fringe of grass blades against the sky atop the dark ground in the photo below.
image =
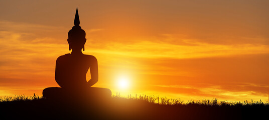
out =
[[(167, 98), (167, 97), (159, 97), (154, 95), (127, 95), (127, 97), (121, 97), (119, 93), (112, 95), (114, 99), (130, 99), (130, 100), (143, 100), (149, 103), (158, 103), (162, 105), (188, 105), (188, 104), (199, 104), (199, 105), (209, 105), (209, 106), (253, 106), (253, 105), (260, 105), (260, 106), (269, 106), (268, 101), (263, 102), (259, 101), (218, 101), (217, 98), (213, 99), (202, 99), (202, 100), (188, 100), (184, 102), (180, 98)], [(37, 100), (37, 99), (44, 99), (43, 96), (38, 96), (34, 93), (33, 96), (25, 96), (25, 95), (15, 95), (14, 97), (11, 96), (4, 96), (0, 97), (0, 102), (11, 102), (11, 101), (29, 101), (29, 100)]]

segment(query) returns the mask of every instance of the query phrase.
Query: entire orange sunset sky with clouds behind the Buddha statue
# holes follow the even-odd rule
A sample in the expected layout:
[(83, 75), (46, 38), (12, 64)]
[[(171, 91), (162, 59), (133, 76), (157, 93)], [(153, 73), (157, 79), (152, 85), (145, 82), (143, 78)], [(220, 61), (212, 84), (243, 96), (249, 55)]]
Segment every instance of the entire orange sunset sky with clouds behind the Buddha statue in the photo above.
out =
[[(98, 87), (183, 100), (268, 101), (268, 0), (0, 2), (0, 96), (41, 95), (78, 6)], [(125, 77), (129, 86), (118, 87)]]

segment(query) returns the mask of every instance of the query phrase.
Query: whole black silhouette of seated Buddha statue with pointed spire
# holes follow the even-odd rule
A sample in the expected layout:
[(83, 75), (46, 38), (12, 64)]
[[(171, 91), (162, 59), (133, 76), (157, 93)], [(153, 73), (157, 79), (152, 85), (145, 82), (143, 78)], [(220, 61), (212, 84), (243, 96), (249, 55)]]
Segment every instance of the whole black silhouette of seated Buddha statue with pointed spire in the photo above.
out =
[[(45, 98), (65, 96), (111, 96), (108, 88), (91, 87), (98, 81), (97, 59), (93, 55), (83, 54), (86, 32), (79, 26), (76, 10), (74, 26), (68, 32), (68, 44), (71, 53), (59, 56), (56, 60), (55, 80), (61, 87), (48, 87), (43, 90)], [(91, 79), (87, 82), (86, 73), (90, 68)]]

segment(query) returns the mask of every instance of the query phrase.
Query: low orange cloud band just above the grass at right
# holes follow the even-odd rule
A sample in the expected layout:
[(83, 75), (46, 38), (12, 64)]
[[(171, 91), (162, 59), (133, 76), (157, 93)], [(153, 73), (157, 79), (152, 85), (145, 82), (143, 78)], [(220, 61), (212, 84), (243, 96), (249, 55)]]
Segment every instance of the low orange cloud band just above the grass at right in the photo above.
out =
[[(267, 92), (264, 89), (268, 89), (268, 86), (265, 85), (255, 85), (255, 84), (245, 84), (242, 86), (241, 84), (233, 84), (228, 85), (232, 87), (232, 89), (223, 89), (226, 85), (214, 85), (214, 84), (181, 84), (181, 85), (152, 85), (156, 88), (156, 91), (160, 92), (170, 92), (173, 94), (178, 94), (178, 97), (181, 96), (199, 96), (200, 98), (218, 98), (220, 100), (267, 100)], [(251, 88), (247, 88), (245, 86), (259, 86), (256, 90)], [(263, 91), (263, 92), (261, 92)], [(187, 99), (190, 100), (190, 99)]]

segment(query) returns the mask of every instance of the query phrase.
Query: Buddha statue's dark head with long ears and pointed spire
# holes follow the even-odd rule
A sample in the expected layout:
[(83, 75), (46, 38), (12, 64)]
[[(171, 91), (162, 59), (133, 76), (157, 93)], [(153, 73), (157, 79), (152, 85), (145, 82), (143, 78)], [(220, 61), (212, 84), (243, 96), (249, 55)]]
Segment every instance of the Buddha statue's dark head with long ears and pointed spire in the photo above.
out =
[(74, 26), (72, 29), (68, 32), (68, 44), (69, 44), (69, 50), (81, 50), (83, 48), (84, 51), (84, 44), (86, 42), (86, 32), (81, 29), (79, 26), (79, 16), (78, 16), (78, 10), (76, 10), (75, 20), (74, 20)]

